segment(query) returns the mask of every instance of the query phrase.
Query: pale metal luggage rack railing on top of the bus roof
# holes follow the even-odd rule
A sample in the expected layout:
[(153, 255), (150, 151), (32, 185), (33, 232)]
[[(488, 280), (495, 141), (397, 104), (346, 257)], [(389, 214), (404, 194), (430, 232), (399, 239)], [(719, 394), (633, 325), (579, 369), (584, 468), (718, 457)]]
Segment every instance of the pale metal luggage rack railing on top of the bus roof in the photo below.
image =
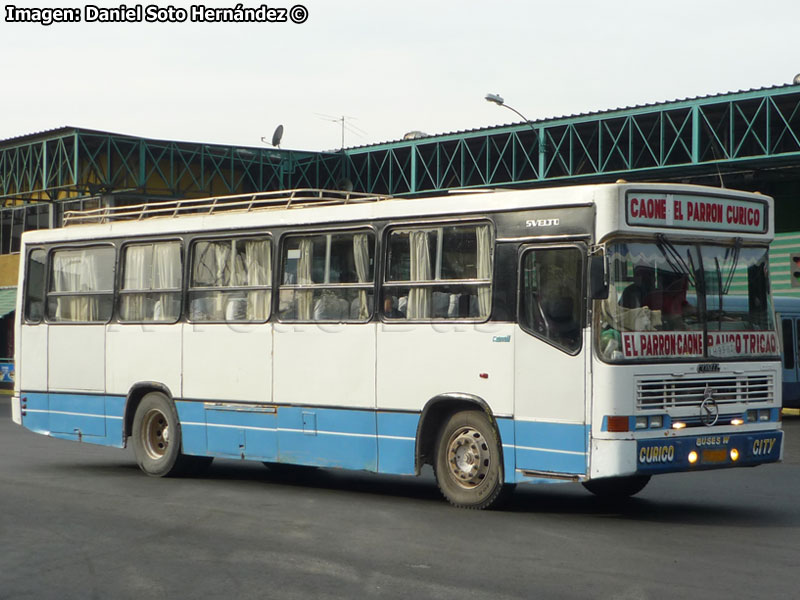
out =
[(215, 196), (184, 200), (153, 200), (132, 206), (107, 206), (64, 212), (64, 226), (114, 221), (141, 221), (155, 217), (213, 215), (220, 212), (285, 210), (309, 206), (335, 206), (389, 200), (391, 196), (302, 188), (276, 192), (257, 192), (234, 196)]

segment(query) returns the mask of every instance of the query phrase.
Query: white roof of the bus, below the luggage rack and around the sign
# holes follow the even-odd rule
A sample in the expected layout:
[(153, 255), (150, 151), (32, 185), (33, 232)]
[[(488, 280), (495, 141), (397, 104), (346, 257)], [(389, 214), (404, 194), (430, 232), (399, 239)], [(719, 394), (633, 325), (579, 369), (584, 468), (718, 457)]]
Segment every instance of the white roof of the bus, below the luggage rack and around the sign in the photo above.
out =
[[(126, 236), (168, 235), (171, 233), (192, 233), (205, 230), (237, 230), (253, 227), (281, 227), (297, 225), (323, 225), (331, 223), (370, 222), (384, 219), (412, 219), (418, 217), (439, 217), (447, 215), (473, 215), (504, 212), (524, 209), (567, 208), (571, 206), (596, 206), (599, 229), (619, 230), (624, 225), (619, 223), (620, 202), (615, 199), (624, 197), (628, 190), (644, 190), (666, 194), (701, 194), (704, 196), (724, 196), (753, 200), (759, 198), (771, 203), (768, 196), (755, 196), (749, 192), (720, 190), (696, 185), (684, 184), (652, 184), (652, 183), (613, 183), (568, 187), (539, 188), (534, 190), (474, 190), (468, 193), (451, 193), (444, 196), (424, 198), (392, 198), (385, 196), (356, 195), (357, 200), (342, 201), (343, 192), (321, 192), (321, 200), (305, 203), (285, 203), (276, 205), (271, 202), (266, 206), (246, 208), (245, 202), (254, 196), (249, 194), (224, 198), (208, 198), (184, 201), (183, 210), (166, 212), (159, 209), (162, 204), (177, 206), (181, 201), (152, 202), (155, 210), (133, 213), (131, 207), (109, 209), (112, 215), (116, 210), (123, 213), (119, 220), (109, 222), (86, 223), (50, 230), (26, 232), (23, 241), (26, 244), (69, 242), (86, 239), (101, 239)], [(305, 190), (308, 192), (309, 190)], [(291, 192), (287, 192), (289, 194)], [(241, 209), (225, 208), (226, 203), (239, 201)], [(219, 206), (218, 209), (209, 207)], [(770, 204), (771, 206), (771, 204)], [(84, 218), (103, 219), (105, 209), (86, 211)], [(197, 214), (188, 211), (205, 210)], [(166, 214), (165, 214), (166, 212)], [(127, 214), (125, 214), (127, 213)], [(603, 217), (603, 218), (601, 218)], [(71, 217), (74, 219), (74, 216)], [(606, 223), (601, 226), (600, 223)], [(641, 229), (641, 228), (640, 228)], [(705, 233), (705, 232), (704, 232)], [(772, 224), (770, 231), (772, 233)], [(695, 235), (698, 232), (694, 232)], [(731, 234), (727, 233), (727, 237)], [(598, 237), (602, 237), (598, 235)], [(745, 236), (747, 237), (747, 236)], [(759, 236), (763, 238), (762, 236)]]

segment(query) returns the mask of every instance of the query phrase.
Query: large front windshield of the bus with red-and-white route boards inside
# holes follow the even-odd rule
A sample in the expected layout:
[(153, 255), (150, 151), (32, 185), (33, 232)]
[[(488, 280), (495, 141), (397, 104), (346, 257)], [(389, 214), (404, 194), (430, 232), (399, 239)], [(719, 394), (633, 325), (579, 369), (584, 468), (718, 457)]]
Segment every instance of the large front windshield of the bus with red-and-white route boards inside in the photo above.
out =
[(596, 344), (607, 361), (778, 354), (766, 247), (619, 241)]

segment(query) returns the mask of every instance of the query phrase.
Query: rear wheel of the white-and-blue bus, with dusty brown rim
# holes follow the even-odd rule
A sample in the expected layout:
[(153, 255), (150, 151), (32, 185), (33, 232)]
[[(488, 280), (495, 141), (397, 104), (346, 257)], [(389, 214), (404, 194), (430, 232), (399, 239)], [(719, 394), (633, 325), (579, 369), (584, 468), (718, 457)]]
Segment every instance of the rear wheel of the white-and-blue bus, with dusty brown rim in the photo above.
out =
[(175, 405), (162, 393), (142, 398), (133, 417), (133, 452), (136, 464), (151, 477), (177, 477), (200, 472), (209, 457), (181, 452), (181, 425)]

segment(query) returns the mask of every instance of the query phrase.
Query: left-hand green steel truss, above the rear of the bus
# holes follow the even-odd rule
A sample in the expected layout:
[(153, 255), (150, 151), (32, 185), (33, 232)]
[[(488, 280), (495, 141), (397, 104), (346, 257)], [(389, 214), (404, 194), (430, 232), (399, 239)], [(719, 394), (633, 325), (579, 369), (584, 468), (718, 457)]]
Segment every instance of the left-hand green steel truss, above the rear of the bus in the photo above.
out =
[(170, 142), (59, 129), (0, 142), (0, 200), (184, 198), (333, 187), (341, 153)]

